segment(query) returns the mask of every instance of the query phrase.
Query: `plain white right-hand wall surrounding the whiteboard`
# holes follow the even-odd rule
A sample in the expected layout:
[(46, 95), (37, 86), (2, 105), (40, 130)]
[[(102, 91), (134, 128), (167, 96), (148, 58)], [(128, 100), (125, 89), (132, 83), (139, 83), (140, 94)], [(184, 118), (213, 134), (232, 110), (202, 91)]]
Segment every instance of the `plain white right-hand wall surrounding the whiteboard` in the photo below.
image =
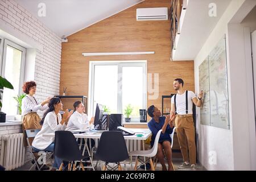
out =
[[(251, 4), (254, 2), (253, 0), (233, 0), (195, 59), (195, 89), (199, 92), (199, 65), (226, 34), (230, 130), (200, 125), (197, 154), (200, 163), (208, 170), (251, 169), (249, 126), (253, 121), (249, 121), (247, 114), (249, 104), (246, 86), (249, 83), (245, 81), (247, 77), (245, 40), (243, 27), (240, 25), (242, 19), (238, 27), (234, 17), (239, 14), (239, 18), (242, 15), (245, 18), (245, 11), (249, 13), (253, 8)], [(235, 24), (229, 24), (230, 20)], [(197, 113), (200, 113), (198, 108)], [(198, 120), (200, 123), (200, 114)], [(208, 155), (211, 151), (216, 152), (216, 164), (209, 164)]]

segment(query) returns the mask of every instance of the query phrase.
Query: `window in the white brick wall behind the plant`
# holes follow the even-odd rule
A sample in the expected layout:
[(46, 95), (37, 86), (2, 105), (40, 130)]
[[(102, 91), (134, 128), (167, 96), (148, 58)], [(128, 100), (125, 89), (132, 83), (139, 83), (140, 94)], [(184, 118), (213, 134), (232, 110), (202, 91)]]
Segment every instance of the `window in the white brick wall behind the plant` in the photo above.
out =
[(2, 39), (1, 45), (1, 76), (14, 86), (13, 90), (3, 89), (2, 111), (7, 115), (15, 115), (18, 113), (18, 107), (13, 97), (22, 93), (26, 49), (6, 39)]

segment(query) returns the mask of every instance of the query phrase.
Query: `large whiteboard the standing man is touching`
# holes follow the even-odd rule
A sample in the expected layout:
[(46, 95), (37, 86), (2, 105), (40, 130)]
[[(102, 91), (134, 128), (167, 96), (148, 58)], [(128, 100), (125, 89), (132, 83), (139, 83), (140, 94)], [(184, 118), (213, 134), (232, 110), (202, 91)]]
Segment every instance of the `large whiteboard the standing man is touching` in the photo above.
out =
[(229, 129), (228, 76), (225, 35), (199, 66), (200, 90), (205, 91), (200, 121)]

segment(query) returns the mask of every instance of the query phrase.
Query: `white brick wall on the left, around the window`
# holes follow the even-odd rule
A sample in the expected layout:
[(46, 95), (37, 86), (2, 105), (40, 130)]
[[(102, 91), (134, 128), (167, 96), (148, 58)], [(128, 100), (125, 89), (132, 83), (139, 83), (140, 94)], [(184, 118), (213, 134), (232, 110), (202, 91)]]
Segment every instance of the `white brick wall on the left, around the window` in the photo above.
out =
[(0, 1), (1, 31), (18, 38), (16, 43), (21, 46), (30, 48), (26, 60), (30, 65), (26, 65), (25, 81), (36, 81), (35, 97), (39, 102), (59, 95), (61, 38), (13, 0)]

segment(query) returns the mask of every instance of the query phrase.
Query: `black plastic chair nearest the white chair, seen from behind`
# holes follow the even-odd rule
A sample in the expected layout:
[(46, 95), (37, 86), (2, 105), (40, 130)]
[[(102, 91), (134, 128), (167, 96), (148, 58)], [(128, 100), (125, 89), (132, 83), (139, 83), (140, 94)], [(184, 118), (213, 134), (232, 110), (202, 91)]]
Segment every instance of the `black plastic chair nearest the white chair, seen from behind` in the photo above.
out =
[(98, 143), (96, 158), (105, 162), (103, 171), (110, 167), (108, 163), (117, 163), (117, 166), (110, 168), (116, 169), (118, 167), (118, 170), (121, 171), (119, 162), (129, 159), (123, 134), (120, 131), (104, 131)]

